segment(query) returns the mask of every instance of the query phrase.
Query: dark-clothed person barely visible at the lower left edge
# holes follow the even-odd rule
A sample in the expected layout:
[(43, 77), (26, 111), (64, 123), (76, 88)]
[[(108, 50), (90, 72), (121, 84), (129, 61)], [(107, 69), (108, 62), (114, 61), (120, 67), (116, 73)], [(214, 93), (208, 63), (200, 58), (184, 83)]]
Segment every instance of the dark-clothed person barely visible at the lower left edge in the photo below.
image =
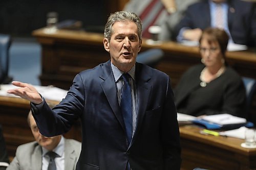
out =
[(5, 170), (9, 165), (9, 158), (6, 151), (5, 139), (3, 136), (2, 126), (0, 125), (0, 170)]

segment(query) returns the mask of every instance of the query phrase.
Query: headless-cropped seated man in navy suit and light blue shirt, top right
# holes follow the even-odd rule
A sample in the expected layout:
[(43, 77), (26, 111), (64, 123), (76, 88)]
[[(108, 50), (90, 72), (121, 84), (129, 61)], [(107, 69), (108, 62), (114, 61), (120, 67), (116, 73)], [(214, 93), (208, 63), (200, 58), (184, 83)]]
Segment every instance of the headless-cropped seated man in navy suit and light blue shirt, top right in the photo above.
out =
[(203, 0), (187, 8), (175, 28), (177, 41), (198, 41), (207, 27), (224, 29), (230, 42), (256, 45), (256, 10), (253, 3), (241, 0)]

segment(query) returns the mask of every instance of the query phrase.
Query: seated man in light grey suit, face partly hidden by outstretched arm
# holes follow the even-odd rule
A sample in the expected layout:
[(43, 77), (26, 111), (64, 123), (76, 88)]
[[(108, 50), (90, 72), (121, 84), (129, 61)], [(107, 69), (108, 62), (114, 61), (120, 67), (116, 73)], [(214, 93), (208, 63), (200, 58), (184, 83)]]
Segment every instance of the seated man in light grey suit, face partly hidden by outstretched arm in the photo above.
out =
[(36, 141), (20, 145), (7, 170), (75, 170), (81, 143), (62, 135), (45, 137), (40, 134), (30, 111), (28, 125)]

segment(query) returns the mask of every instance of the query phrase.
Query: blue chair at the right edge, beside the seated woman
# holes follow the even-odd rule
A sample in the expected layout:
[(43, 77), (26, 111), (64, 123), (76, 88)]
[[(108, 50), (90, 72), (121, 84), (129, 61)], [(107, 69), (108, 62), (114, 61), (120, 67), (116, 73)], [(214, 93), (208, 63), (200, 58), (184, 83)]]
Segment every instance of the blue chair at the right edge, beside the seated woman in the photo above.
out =
[(256, 125), (256, 114), (250, 112), (254, 95), (256, 94), (256, 80), (252, 78), (243, 77), (244, 86), (246, 89), (246, 107), (245, 113), (247, 115), (247, 120), (252, 122), (254, 126)]

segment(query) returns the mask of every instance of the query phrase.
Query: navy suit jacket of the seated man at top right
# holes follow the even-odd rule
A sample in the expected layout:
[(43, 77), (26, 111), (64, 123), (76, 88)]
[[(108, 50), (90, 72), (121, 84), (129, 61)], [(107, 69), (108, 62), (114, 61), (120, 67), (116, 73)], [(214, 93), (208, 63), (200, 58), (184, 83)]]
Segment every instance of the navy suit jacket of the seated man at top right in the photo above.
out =
[[(241, 0), (227, 1), (228, 28), (234, 43), (248, 46), (256, 45), (256, 10), (255, 3)], [(207, 0), (196, 3), (187, 8), (184, 18), (176, 26), (176, 36), (180, 29), (200, 28), (202, 30), (210, 27), (210, 8)]]

